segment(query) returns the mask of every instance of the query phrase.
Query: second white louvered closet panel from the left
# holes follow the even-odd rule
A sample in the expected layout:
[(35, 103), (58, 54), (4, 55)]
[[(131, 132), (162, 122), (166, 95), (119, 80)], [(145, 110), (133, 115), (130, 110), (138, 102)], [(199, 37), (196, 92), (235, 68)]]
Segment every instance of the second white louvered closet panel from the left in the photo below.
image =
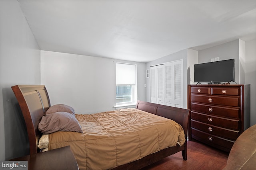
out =
[(164, 64), (157, 66), (157, 104), (164, 105)]

